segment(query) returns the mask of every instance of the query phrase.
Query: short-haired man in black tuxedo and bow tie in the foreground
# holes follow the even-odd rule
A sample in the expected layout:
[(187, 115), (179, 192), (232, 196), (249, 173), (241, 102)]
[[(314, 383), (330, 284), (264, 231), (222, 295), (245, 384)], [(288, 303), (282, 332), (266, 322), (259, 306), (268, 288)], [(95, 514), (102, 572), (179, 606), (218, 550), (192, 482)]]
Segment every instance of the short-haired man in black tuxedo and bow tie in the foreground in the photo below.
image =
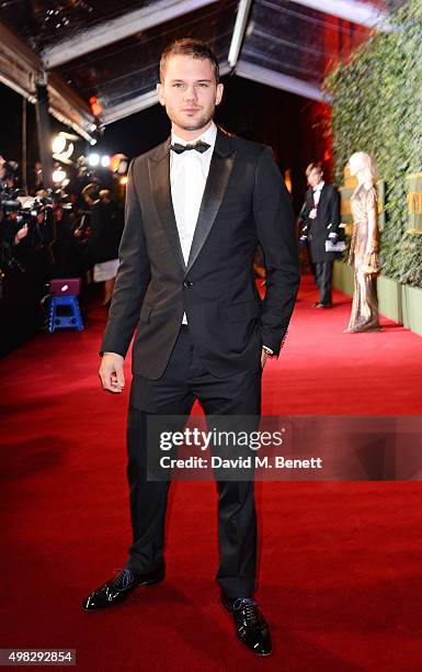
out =
[[(160, 63), (159, 100), (171, 139), (129, 167), (121, 266), (102, 344), (105, 390), (122, 392), (123, 361), (136, 324), (128, 414), (128, 480), (134, 541), (124, 571), (83, 602), (122, 602), (164, 576), (168, 482), (147, 480), (149, 415), (260, 414), (261, 371), (277, 356), (299, 283), (289, 197), (269, 147), (230, 136), (213, 122), (223, 97), (218, 63), (205, 44), (182, 40)], [(258, 243), (266, 295), (253, 278)], [(218, 481), (224, 606), (238, 637), (271, 652), (256, 603), (253, 482)]]

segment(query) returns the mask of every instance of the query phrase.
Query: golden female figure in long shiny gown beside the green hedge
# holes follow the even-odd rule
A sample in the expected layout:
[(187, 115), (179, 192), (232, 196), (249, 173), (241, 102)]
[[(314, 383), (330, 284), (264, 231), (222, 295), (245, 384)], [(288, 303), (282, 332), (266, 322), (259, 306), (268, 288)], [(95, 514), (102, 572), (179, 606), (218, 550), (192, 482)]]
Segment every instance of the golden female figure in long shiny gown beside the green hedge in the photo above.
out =
[(349, 264), (354, 268), (354, 294), (349, 334), (379, 331), (377, 280), (379, 273), (379, 231), (375, 167), (365, 152), (349, 160), (357, 187), (351, 198), (353, 236)]

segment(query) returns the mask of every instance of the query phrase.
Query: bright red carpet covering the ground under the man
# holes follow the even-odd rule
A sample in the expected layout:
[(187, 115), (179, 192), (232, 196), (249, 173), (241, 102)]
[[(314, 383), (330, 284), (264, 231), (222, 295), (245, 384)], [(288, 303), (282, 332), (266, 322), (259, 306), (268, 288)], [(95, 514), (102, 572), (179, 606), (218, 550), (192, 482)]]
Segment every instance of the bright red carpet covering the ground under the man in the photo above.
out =
[[(384, 321), (346, 335), (350, 301), (310, 309), (264, 372), (266, 414), (421, 414), (422, 340)], [(218, 603), (215, 486), (178, 483), (168, 578), (110, 612), (82, 597), (126, 558), (127, 393), (102, 393), (105, 313), (3, 360), (0, 648), (77, 649), (78, 669), (398, 672), (422, 660), (422, 484), (260, 483), (259, 601), (274, 656), (238, 645)]]

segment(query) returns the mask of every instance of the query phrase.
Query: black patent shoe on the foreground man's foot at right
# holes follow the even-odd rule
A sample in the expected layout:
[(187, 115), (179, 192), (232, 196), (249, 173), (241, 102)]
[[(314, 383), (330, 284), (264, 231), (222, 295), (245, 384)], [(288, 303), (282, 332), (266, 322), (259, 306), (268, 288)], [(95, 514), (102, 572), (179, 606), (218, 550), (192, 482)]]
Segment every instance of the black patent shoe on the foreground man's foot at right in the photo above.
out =
[(240, 641), (256, 656), (270, 656), (272, 653), (270, 628), (256, 602), (250, 597), (233, 600), (224, 593), (221, 602), (233, 617), (236, 634)]

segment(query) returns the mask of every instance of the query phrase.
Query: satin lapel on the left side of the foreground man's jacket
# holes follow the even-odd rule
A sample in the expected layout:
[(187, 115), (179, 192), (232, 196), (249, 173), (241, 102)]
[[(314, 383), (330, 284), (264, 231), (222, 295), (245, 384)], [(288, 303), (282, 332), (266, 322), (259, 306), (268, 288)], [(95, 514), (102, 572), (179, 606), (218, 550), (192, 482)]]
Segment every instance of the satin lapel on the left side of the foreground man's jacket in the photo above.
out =
[(173, 202), (171, 200), (169, 143), (160, 145), (156, 155), (149, 157), (149, 179), (162, 227), (166, 231), (172, 249), (174, 249), (176, 261), (184, 272), (186, 266), (180, 244)]

